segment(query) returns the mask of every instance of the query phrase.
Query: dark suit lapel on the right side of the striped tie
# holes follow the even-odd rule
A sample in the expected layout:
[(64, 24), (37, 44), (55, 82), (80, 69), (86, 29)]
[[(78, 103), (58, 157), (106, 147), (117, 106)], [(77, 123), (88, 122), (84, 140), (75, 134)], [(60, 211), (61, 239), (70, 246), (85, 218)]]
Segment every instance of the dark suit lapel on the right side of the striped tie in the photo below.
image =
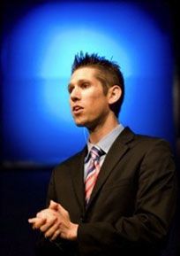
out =
[(113, 168), (116, 167), (116, 164), (119, 162), (120, 159), (123, 158), (126, 151), (128, 151), (128, 143), (130, 143), (133, 137), (134, 134), (131, 132), (130, 128), (124, 128), (124, 131), (117, 137), (115, 143), (112, 144), (101, 166), (101, 171), (98, 176), (97, 182), (94, 185), (94, 190), (89, 200), (87, 209), (94, 201), (94, 198), (96, 197), (98, 191), (101, 190), (101, 186), (108, 179)]

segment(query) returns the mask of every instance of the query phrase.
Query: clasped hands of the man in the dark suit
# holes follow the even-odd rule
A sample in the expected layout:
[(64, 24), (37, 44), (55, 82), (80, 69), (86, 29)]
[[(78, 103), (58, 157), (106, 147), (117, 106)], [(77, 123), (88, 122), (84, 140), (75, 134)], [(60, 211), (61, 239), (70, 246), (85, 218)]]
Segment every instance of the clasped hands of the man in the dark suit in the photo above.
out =
[(63, 206), (50, 201), (49, 208), (41, 210), (34, 218), (28, 219), (33, 229), (40, 229), (51, 241), (57, 237), (76, 240), (78, 224), (72, 223), (69, 213)]

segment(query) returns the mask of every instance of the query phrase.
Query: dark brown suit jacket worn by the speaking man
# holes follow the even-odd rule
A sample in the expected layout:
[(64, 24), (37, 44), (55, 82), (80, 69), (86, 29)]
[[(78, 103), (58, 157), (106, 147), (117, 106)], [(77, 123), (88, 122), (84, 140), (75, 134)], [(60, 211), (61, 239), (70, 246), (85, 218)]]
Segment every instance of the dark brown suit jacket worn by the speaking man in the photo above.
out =
[[(124, 128), (104, 160), (87, 208), (85, 155), (86, 148), (57, 166), (49, 182), (48, 204), (50, 199), (60, 203), (79, 223), (78, 241), (57, 240), (55, 255), (160, 255), (176, 209), (169, 144)], [(52, 256), (48, 247), (46, 255)]]

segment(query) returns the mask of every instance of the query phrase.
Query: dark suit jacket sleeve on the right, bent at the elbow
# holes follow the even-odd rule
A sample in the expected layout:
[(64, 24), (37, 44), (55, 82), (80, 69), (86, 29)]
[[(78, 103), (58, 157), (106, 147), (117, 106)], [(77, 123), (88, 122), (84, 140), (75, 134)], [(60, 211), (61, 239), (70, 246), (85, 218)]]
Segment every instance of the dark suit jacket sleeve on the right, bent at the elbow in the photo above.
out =
[[(121, 252), (124, 248), (133, 247), (133, 244), (155, 246), (166, 237), (176, 209), (175, 164), (168, 143), (157, 140), (149, 144), (140, 163), (137, 180), (138, 189), (131, 216), (119, 216), (111, 223), (79, 224), (80, 255), (113, 255), (115, 250)], [(113, 206), (109, 211), (114, 211)]]

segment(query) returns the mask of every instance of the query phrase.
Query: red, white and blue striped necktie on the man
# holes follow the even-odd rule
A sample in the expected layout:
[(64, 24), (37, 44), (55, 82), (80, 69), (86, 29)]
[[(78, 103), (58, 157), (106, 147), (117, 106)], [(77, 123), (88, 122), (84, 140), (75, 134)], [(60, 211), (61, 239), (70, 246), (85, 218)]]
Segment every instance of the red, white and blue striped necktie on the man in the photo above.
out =
[(92, 147), (90, 151), (90, 160), (87, 167), (86, 180), (85, 180), (85, 199), (86, 205), (88, 204), (91, 193), (94, 189), (94, 184), (100, 172), (100, 158), (104, 154), (101, 149)]

